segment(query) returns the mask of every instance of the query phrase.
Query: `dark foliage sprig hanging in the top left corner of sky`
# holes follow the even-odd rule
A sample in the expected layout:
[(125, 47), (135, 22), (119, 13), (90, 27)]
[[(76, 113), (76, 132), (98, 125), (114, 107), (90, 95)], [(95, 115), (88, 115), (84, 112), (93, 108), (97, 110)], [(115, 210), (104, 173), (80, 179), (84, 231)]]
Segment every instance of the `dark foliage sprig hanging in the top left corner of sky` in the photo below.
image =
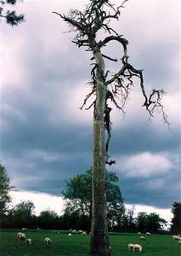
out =
[(6, 3), (14, 5), (16, 2), (17, 0), (0, 1), (0, 18), (6, 19), (6, 22), (11, 26), (16, 26), (25, 20), (24, 15), (17, 15), (14, 10), (7, 10), (6, 13), (3, 12)]

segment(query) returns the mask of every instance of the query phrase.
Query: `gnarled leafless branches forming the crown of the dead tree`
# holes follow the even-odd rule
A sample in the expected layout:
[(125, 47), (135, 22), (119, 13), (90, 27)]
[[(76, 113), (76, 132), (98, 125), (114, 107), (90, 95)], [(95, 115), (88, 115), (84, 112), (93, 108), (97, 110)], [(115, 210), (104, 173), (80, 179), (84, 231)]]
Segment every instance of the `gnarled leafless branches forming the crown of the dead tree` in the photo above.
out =
[[(143, 70), (133, 67), (128, 61), (129, 57), (127, 55), (127, 44), (126, 38), (123, 38), (122, 34), (116, 32), (110, 26), (111, 20), (119, 20), (121, 16), (121, 9), (124, 7), (124, 3), (128, 0), (122, 2), (121, 5), (116, 7), (114, 4), (110, 3), (109, 0), (90, 0), (89, 4), (86, 6), (84, 11), (79, 11), (77, 9), (71, 9), (68, 15), (61, 15), (58, 12), (54, 14), (59, 15), (59, 17), (65, 20), (71, 27), (70, 32), (76, 32), (76, 36), (73, 39), (73, 43), (78, 47), (86, 47), (88, 51), (93, 52), (93, 57), (91, 61), (93, 69), (91, 71), (92, 80), (90, 84), (92, 85), (91, 92), (85, 97), (82, 104), (82, 108), (87, 104), (88, 99), (91, 96), (95, 96), (95, 100), (88, 106), (88, 108), (95, 108), (96, 102), (96, 91), (98, 84), (98, 72), (102, 76), (101, 80), (105, 86), (106, 96), (105, 96), (105, 130), (107, 131), (108, 137), (105, 145), (107, 153), (107, 163), (115, 163), (115, 161), (108, 162), (108, 148), (110, 142), (110, 111), (112, 108), (109, 106), (109, 102), (112, 102), (116, 108), (122, 110), (124, 113), (124, 106), (127, 102), (127, 98), (130, 94), (130, 90), (133, 88), (134, 78), (138, 78), (140, 81), (140, 89), (144, 96), (143, 106), (150, 113), (150, 117), (154, 115), (156, 110), (161, 111), (163, 120), (167, 123), (167, 114), (164, 111), (163, 105), (161, 103), (161, 96), (163, 95), (163, 90), (152, 90), (150, 95), (147, 96), (144, 89), (144, 77)], [(105, 32), (105, 38), (99, 40), (97, 34), (100, 31)], [(101, 34), (102, 35), (102, 34)], [(104, 36), (104, 34), (103, 34)], [(122, 53), (122, 57), (116, 59), (115, 57), (105, 55), (101, 52), (102, 48), (112, 41), (116, 41), (121, 44), (122, 50), (117, 50)], [(99, 56), (99, 57), (98, 57)], [(104, 59), (109, 61), (119, 61), (119, 70), (116, 73), (105, 70)], [(81, 108), (81, 109), (82, 109)]]

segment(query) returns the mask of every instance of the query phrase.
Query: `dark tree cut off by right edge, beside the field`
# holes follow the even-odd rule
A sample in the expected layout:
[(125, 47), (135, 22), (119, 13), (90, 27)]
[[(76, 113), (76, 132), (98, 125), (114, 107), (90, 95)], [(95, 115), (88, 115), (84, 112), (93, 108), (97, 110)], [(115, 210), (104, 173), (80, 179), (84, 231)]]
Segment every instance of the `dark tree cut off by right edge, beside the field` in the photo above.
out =
[(171, 231), (177, 234), (181, 233), (181, 202), (173, 202), (173, 219), (171, 224)]

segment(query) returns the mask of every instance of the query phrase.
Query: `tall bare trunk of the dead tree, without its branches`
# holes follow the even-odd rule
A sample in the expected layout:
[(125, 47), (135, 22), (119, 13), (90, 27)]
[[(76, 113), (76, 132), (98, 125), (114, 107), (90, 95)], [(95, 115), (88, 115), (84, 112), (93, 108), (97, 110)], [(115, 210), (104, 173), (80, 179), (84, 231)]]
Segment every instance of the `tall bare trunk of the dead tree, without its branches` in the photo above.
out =
[(93, 114), (93, 208), (90, 256), (108, 256), (109, 238), (105, 198), (105, 63), (99, 51), (94, 53), (97, 63), (96, 102)]

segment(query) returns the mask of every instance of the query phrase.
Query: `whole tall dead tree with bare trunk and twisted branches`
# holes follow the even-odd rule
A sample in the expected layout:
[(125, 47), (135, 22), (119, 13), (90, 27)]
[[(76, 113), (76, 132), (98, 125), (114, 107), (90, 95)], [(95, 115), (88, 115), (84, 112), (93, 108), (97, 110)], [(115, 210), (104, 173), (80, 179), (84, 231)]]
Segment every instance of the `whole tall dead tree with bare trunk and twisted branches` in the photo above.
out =
[[(150, 96), (146, 95), (144, 90), (143, 71), (136, 69), (129, 63), (127, 55), (126, 38), (116, 32), (111, 26), (111, 20), (119, 20), (122, 4), (118, 7), (113, 5), (110, 0), (89, 0), (89, 4), (84, 11), (71, 9), (69, 15), (62, 15), (58, 12), (54, 14), (66, 21), (71, 27), (70, 32), (76, 32), (73, 43), (78, 47), (85, 47), (86, 50), (93, 53), (91, 71), (91, 91), (85, 97), (82, 104), (84, 108), (88, 99), (93, 102), (86, 108), (93, 107), (93, 209), (92, 209), (92, 227), (91, 227), (91, 246), (89, 255), (107, 256), (110, 255), (109, 237), (107, 230), (106, 217), (106, 198), (105, 198), (105, 164), (115, 164), (115, 160), (110, 160), (109, 143), (111, 137), (110, 122), (110, 102), (124, 112), (124, 105), (130, 90), (133, 88), (134, 78), (140, 80), (140, 89), (144, 96), (143, 106), (153, 116), (156, 108), (160, 108), (163, 113), (163, 119), (167, 121), (167, 115), (161, 105), (162, 90), (153, 90)], [(100, 31), (105, 32), (105, 38), (97, 39)], [(119, 59), (105, 55), (105, 46), (110, 42), (116, 41), (120, 44), (123, 52)], [(110, 75), (109, 70), (105, 70), (105, 60), (116, 61), (119, 63), (119, 71)], [(105, 137), (105, 131), (107, 137)]]

